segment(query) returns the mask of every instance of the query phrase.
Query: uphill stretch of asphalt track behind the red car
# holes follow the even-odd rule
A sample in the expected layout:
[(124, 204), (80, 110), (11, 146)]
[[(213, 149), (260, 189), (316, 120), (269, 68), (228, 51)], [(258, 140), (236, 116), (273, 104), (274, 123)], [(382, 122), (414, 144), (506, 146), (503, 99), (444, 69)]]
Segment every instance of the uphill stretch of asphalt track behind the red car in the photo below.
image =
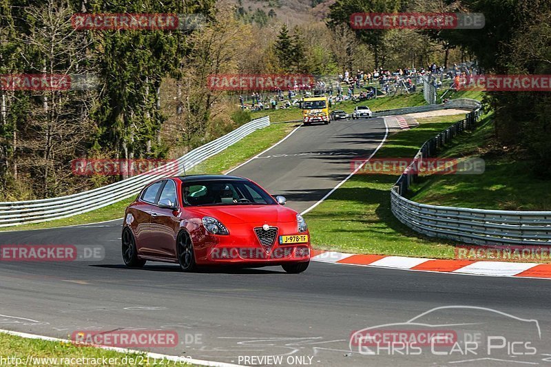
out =
[(299, 213), (351, 174), (353, 159), (368, 158), (386, 134), (382, 118), (302, 126), (232, 175), (251, 178), (283, 195)]

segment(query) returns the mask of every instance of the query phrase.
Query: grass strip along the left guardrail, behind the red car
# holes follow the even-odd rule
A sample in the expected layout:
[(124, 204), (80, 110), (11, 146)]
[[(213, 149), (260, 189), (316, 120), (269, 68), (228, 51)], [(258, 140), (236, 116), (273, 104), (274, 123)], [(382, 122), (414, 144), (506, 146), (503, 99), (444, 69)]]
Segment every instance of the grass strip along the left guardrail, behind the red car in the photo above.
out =
[[(238, 143), (231, 145), (216, 156), (213, 156), (200, 165), (191, 169), (187, 174), (222, 174), (231, 167), (244, 162), (248, 158), (255, 156), (264, 149), (277, 143), (284, 136), (289, 134), (294, 125), (291, 124), (274, 124), (264, 129), (259, 129), (249, 136), (246, 136)], [(127, 198), (115, 204), (89, 211), (88, 213), (79, 214), (64, 219), (50, 220), (49, 222), (21, 224), (13, 227), (0, 227), (0, 231), (25, 231), (29, 229), (43, 229), (53, 227), (63, 227), (75, 224), (86, 224), (94, 222), (103, 222), (105, 220), (113, 220), (122, 218), (125, 208), (134, 200), (134, 196)]]

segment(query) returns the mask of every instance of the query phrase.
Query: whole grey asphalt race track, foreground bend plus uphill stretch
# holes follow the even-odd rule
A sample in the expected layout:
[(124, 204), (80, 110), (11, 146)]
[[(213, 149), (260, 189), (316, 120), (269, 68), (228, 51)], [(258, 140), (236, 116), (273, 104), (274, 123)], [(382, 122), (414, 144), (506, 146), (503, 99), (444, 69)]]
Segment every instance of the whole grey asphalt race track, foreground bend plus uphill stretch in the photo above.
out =
[[(289, 206), (302, 211), (348, 176), (351, 157), (369, 156), (384, 132), (380, 119), (300, 127), (232, 174), (287, 196)], [(0, 233), (0, 244), (105, 248), (105, 258), (95, 262), (0, 262), (0, 328), (61, 338), (80, 330), (162, 328), (177, 331), (182, 344), (152, 348), (156, 352), (235, 364), (243, 364), (244, 356), (278, 355), (283, 365), (311, 366), (551, 364), (547, 280), (320, 262), (298, 275), (280, 267), (181, 273), (176, 265), (152, 262), (134, 270), (123, 266), (120, 238), (118, 221)], [(494, 337), (493, 348), (452, 355), (447, 355), (451, 347), (431, 346), (419, 355), (351, 350), (352, 333), (388, 328), (385, 324), (395, 324), (393, 330), (419, 331), (428, 325), (453, 330), (458, 341)], [(509, 353), (503, 353), (507, 348)], [(265, 361), (256, 359), (255, 365)]]

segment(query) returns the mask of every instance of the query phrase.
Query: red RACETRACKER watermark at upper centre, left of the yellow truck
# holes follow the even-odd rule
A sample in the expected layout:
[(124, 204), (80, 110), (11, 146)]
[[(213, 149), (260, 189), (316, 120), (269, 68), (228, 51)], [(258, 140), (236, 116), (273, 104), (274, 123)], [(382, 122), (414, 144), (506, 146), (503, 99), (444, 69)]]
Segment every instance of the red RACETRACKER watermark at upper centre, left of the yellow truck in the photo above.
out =
[(207, 76), (209, 90), (273, 91), (315, 85), (310, 74), (211, 74)]

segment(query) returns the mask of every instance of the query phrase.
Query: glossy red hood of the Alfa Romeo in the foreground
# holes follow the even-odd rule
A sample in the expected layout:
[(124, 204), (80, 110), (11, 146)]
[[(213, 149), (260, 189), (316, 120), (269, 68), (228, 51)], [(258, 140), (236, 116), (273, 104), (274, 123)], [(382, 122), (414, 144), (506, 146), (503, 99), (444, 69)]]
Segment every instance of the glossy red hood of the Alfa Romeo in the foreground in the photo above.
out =
[(281, 205), (220, 205), (218, 207), (191, 207), (187, 210), (195, 213), (199, 218), (204, 216), (216, 218), (222, 224), (258, 222), (274, 224), (276, 222), (295, 222), (297, 220), (296, 211)]

